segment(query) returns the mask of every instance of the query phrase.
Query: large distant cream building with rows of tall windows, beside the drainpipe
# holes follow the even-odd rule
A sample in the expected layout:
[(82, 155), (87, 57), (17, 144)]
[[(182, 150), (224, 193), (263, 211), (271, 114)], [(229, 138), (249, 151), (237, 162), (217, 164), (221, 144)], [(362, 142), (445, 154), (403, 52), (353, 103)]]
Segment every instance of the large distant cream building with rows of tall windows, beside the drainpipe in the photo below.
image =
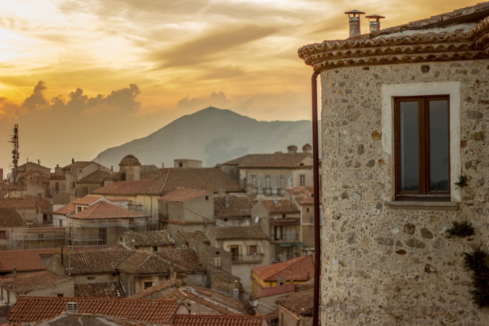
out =
[(291, 145), (287, 153), (247, 154), (222, 164), (221, 169), (236, 179), (246, 194), (285, 194), (285, 188), (312, 185), (311, 145)]

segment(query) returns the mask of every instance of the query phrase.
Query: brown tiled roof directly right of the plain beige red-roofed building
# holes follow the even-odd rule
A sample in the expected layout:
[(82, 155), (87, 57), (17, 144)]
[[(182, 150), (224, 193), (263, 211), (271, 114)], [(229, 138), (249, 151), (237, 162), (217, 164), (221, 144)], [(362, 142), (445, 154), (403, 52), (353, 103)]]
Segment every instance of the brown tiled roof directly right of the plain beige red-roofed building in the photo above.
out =
[(250, 217), (255, 196), (226, 195), (214, 198), (215, 217)]

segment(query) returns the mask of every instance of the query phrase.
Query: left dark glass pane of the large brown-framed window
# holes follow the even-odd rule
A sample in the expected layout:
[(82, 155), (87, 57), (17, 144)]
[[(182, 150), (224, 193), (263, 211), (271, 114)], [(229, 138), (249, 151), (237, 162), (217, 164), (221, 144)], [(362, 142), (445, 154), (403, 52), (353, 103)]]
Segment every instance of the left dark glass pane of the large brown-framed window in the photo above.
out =
[(418, 191), (418, 102), (400, 102), (400, 191)]

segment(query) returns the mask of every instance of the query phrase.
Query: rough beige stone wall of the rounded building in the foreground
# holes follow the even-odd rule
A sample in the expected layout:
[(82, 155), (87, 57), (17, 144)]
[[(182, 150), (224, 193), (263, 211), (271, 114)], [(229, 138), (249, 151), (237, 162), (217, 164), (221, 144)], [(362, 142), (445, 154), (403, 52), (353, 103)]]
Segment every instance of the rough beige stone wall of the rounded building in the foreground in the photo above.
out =
[[(344, 67), (321, 73), (322, 325), (488, 325), (464, 252), (489, 244), (489, 61)], [(460, 82), (458, 210), (394, 209), (382, 148), (382, 85)], [(458, 180), (451, 180), (452, 183)], [(453, 221), (475, 235), (448, 238)]]

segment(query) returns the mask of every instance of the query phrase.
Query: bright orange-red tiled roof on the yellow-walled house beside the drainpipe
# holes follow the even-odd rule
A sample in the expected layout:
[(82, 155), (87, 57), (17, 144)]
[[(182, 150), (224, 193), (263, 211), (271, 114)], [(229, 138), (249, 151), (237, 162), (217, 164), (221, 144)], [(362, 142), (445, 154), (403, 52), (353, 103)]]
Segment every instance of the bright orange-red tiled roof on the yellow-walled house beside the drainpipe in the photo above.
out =
[(308, 255), (255, 267), (251, 271), (265, 282), (276, 282), (281, 276), (286, 281), (308, 281), (314, 278), (314, 262), (312, 255)]

